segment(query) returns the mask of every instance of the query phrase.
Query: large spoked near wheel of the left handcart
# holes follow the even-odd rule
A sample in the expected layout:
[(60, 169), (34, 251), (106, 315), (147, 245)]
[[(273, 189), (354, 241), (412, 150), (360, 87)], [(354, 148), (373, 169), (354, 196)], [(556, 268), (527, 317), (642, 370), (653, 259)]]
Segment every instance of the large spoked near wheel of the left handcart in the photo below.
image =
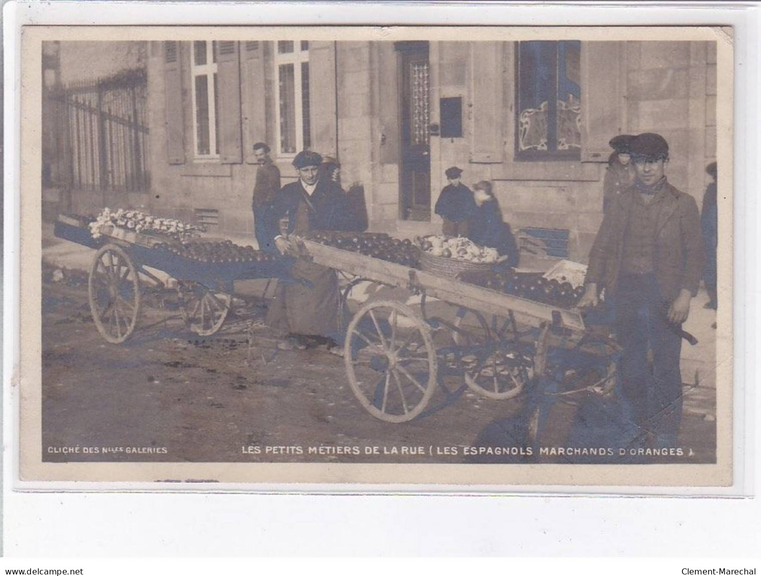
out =
[(95, 328), (110, 343), (130, 337), (140, 315), (140, 279), (132, 258), (117, 245), (97, 251), (90, 267), (88, 300)]

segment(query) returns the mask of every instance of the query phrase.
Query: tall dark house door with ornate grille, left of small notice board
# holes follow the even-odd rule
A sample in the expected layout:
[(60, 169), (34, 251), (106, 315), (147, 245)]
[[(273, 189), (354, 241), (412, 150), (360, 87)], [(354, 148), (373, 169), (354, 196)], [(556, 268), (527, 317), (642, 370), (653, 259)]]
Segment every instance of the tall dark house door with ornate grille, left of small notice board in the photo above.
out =
[(427, 42), (396, 43), (400, 74), (400, 218), (431, 220), (430, 64)]

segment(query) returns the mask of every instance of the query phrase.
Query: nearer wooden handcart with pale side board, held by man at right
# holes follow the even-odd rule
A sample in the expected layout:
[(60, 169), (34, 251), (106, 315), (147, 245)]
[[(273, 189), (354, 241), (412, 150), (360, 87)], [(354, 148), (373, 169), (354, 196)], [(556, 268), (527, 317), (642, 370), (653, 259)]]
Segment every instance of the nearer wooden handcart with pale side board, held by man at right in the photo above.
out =
[[(308, 239), (298, 244), (302, 258), (354, 278), (345, 295), (369, 281), (419, 297), (419, 309), (394, 299), (367, 302), (346, 328), (349, 385), (361, 406), (378, 419), (403, 423), (425, 414), (438, 388), (447, 397), (470, 388), (483, 397), (513, 398), (549, 373), (565, 378), (578, 362), (587, 374), (596, 374), (593, 381), (585, 381), (585, 389), (610, 391), (615, 382), (618, 347), (610, 338), (594, 337), (578, 309), (553, 307)], [(454, 314), (430, 315), (433, 299), (454, 307)], [(570, 350), (566, 359), (583, 361), (555, 366), (551, 350)], [(454, 390), (447, 385), (453, 380), (461, 383)]]

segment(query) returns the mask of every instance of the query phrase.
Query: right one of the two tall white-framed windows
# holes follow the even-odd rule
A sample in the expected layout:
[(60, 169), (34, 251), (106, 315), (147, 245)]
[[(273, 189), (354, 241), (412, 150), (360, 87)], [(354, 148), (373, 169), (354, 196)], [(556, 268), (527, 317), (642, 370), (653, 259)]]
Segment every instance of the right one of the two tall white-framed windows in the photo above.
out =
[(309, 43), (279, 40), (275, 50), (275, 114), (279, 156), (312, 144), (309, 109)]

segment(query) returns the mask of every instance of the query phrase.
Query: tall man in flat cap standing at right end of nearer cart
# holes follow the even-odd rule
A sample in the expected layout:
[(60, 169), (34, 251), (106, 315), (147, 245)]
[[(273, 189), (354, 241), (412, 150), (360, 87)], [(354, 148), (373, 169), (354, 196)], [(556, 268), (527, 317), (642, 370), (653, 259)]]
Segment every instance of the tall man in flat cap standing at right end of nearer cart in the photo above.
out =
[(632, 140), (636, 179), (611, 198), (578, 304), (597, 305), (602, 289), (614, 304), (623, 348), (622, 396), (638, 441), (648, 448), (677, 443), (682, 413), (678, 328), (689, 315), (705, 260), (697, 204), (664, 175), (668, 152), (661, 135), (645, 133)]

